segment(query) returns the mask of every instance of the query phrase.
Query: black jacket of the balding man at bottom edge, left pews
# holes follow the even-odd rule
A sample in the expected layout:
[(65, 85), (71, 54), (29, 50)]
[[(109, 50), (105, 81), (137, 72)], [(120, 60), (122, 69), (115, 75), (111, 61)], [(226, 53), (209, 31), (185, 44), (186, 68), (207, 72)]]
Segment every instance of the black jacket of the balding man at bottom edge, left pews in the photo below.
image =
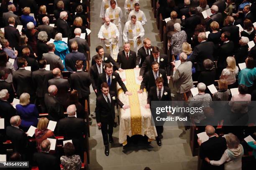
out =
[(60, 161), (50, 153), (34, 153), (33, 161), (39, 170), (60, 170)]

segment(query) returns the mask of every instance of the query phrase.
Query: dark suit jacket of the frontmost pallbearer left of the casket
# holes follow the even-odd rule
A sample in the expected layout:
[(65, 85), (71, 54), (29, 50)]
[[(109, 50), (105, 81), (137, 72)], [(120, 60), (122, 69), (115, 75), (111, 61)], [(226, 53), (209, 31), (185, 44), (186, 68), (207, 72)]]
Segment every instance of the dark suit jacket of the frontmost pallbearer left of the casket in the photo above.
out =
[[(115, 100), (113, 100), (113, 97), (115, 97)], [(115, 93), (110, 92), (110, 98), (111, 107), (109, 107), (108, 102), (105, 100), (103, 94), (100, 94), (96, 98), (95, 113), (97, 123), (114, 121), (115, 104), (118, 103), (120, 107), (123, 107), (123, 103), (116, 97)]]

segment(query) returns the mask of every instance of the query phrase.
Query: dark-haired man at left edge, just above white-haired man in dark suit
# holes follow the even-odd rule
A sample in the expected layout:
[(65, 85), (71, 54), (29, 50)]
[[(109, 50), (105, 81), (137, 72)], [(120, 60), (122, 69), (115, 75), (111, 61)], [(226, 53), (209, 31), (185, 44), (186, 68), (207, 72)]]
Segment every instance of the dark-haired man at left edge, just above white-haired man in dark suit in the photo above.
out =
[(6, 82), (5, 80), (8, 77), (8, 73), (5, 70), (0, 70), (0, 90), (6, 89), (9, 93), (8, 102), (13, 102), (14, 92), (13, 86), (11, 83)]

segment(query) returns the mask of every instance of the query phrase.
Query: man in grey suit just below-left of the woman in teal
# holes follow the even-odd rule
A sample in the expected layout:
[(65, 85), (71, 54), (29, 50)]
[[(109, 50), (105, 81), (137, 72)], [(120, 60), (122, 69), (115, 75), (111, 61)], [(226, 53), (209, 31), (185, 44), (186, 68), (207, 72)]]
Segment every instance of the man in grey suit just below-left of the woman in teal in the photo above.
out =
[(50, 65), (50, 70), (53, 70), (54, 68), (59, 68), (60, 70), (63, 70), (64, 65), (61, 61), (61, 58), (58, 55), (54, 54), (54, 43), (48, 45), (48, 50), (49, 52), (43, 54), (42, 60), (46, 60), (47, 64)]

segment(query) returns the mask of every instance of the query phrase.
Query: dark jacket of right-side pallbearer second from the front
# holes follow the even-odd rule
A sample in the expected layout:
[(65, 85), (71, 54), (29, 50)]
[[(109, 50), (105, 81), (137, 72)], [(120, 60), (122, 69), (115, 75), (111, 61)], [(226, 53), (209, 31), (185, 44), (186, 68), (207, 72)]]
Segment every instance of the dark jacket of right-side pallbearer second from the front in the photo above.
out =
[[(166, 72), (164, 69), (159, 69), (158, 76), (160, 77), (160, 75), (164, 79), (164, 86), (168, 86), (168, 80), (167, 80)], [(144, 89), (145, 87), (149, 92), (150, 88), (153, 86), (156, 86), (153, 70), (148, 70), (143, 76), (140, 89)]]

